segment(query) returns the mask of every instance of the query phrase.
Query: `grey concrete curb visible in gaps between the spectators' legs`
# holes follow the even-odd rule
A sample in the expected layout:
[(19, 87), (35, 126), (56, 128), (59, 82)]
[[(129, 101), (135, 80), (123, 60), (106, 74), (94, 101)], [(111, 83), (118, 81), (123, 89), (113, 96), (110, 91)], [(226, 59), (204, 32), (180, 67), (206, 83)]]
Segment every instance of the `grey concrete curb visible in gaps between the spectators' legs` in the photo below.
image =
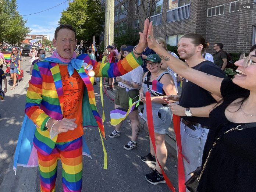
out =
[[(97, 86), (99, 86), (99, 82), (97, 83)], [(103, 85), (104, 86), (104, 85)], [(103, 88), (103, 91), (104, 91), (104, 88)], [(111, 97), (111, 99), (114, 99), (115, 98), (115, 90), (106, 90), (107, 92), (107, 95), (109, 95)], [(138, 109), (138, 113), (141, 112), (141, 107), (139, 107)], [(145, 123), (145, 121), (139, 117), (139, 121), (141, 122), (141, 124), (143, 125)], [(173, 124), (171, 124), (173, 125)], [(173, 129), (173, 127), (170, 127), (171, 129)], [(169, 129), (170, 129), (169, 128)], [(147, 124), (145, 123), (144, 124), (144, 130), (147, 130), (148, 132), (148, 127), (147, 127)], [(165, 142), (170, 145), (175, 151), (176, 151), (176, 141), (174, 138), (171, 138), (170, 135), (166, 134), (166, 137), (165, 137)]]

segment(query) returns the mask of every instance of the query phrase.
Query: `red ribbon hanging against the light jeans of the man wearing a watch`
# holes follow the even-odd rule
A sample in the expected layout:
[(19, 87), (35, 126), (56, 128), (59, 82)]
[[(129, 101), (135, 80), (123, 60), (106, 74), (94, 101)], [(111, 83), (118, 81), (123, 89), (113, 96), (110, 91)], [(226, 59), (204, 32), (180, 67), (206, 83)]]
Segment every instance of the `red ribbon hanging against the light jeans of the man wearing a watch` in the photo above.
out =
[(180, 117), (173, 114), (173, 127), (176, 135), (176, 143), (178, 147), (178, 185), (179, 192), (186, 192), (185, 183), (185, 172), (184, 165), (182, 161), (182, 146), (181, 146), (181, 129), (180, 129)]

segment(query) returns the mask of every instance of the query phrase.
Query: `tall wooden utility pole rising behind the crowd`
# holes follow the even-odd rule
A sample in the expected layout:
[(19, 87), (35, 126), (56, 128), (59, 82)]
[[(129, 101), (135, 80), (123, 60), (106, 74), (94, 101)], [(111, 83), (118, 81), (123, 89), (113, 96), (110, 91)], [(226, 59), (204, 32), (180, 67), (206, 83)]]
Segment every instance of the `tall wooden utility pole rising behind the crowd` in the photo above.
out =
[(114, 0), (106, 0), (104, 46), (114, 43)]

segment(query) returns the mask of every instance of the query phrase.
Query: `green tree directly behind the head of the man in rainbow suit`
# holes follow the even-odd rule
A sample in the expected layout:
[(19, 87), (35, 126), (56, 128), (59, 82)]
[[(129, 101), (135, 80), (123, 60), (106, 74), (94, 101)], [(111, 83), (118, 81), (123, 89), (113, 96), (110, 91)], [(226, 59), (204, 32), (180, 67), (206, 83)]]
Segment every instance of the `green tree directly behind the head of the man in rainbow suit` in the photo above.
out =
[(100, 0), (76, 0), (61, 13), (59, 24), (71, 24), (77, 30), (77, 40), (92, 42), (103, 30), (105, 13)]

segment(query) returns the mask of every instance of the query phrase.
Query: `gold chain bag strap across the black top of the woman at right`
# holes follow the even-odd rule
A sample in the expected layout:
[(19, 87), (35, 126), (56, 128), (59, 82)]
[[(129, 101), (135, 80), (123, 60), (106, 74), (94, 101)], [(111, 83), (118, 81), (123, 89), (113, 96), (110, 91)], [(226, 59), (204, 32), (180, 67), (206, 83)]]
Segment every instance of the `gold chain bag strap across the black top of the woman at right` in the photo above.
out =
[[(224, 134), (227, 134), (228, 132), (235, 131), (235, 130), (241, 131), (241, 130), (243, 130), (243, 129), (253, 128), (253, 127), (256, 127), (256, 123), (255, 123), (255, 122), (254, 122), (254, 123), (249, 123), (249, 124), (238, 125), (237, 127), (234, 127), (234, 128), (229, 129), (229, 130), (226, 131)], [(203, 171), (205, 170), (205, 167), (206, 167), (207, 162), (208, 162), (208, 160), (209, 160), (210, 154), (211, 154), (213, 148), (216, 146), (216, 144), (217, 144), (218, 141), (220, 141), (220, 138), (217, 138), (217, 141), (215, 141), (215, 142), (213, 143), (213, 147), (210, 149), (210, 151), (209, 151), (209, 153), (208, 153), (208, 156), (207, 156), (207, 158), (206, 158), (206, 160), (205, 160), (205, 164), (203, 164), (203, 169), (202, 169), (202, 171), (201, 171), (201, 173), (200, 173), (200, 176), (198, 177), (198, 181), (200, 181), (200, 179), (201, 179), (201, 177), (202, 177), (202, 175), (203, 175)]]

